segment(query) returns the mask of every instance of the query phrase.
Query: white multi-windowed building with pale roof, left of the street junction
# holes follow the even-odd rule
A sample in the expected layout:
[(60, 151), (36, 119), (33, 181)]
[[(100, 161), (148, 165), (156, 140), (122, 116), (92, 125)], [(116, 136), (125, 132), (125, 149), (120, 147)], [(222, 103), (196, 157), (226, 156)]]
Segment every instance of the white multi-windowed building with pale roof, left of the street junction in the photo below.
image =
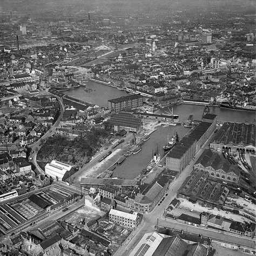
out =
[(111, 209), (109, 212), (109, 220), (113, 223), (133, 228), (140, 224), (141, 219), (137, 212), (127, 213)]

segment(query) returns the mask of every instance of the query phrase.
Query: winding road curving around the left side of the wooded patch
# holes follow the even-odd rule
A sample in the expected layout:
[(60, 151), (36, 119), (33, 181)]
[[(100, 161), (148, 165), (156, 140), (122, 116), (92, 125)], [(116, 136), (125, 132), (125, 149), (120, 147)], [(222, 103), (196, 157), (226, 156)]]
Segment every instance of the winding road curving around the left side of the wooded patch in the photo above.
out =
[(32, 158), (31, 162), (36, 166), (37, 170), (41, 173), (41, 174), (45, 174), (44, 171), (41, 169), (41, 167), (37, 164), (37, 152), (39, 151), (39, 149), (41, 148), (41, 141), (43, 139), (47, 139), (49, 138), (50, 136), (52, 136), (52, 134), (55, 133), (56, 131), (56, 128), (58, 127), (59, 125), (59, 122), (60, 122), (60, 119), (62, 118), (62, 115), (63, 115), (63, 112), (64, 112), (64, 105), (63, 105), (63, 102), (62, 100), (57, 97), (57, 100), (60, 104), (60, 114), (59, 114), (59, 117), (58, 119), (56, 120), (56, 122), (52, 125), (51, 129), (49, 131), (47, 131), (39, 140), (37, 140), (37, 142), (33, 143), (32, 145), (30, 145), (31, 147), (31, 152), (30, 152), (30, 156), (29, 158)]

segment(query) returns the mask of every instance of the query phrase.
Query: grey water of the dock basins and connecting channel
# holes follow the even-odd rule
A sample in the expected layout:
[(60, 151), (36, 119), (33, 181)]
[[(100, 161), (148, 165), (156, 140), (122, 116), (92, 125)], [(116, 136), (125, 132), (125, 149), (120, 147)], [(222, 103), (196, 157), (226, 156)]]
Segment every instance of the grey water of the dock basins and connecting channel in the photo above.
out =
[[(127, 95), (125, 91), (120, 91), (111, 86), (97, 84), (94, 82), (89, 82), (87, 87), (93, 91), (85, 92), (84, 87), (79, 87), (78, 89), (67, 91), (65, 93), (74, 98), (84, 100), (85, 102), (91, 102), (99, 106), (107, 106), (108, 99)], [(173, 113), (179, 114), (179, 120), (181, 123), (187, 120), (190, 114), (193, 114), (194, 120), (201, 120), (203, 111), (204, 106), (200, 105), (182, 104), (173, 106)], [(161, 109), (158, 112), (170, 113), (171, 107), (166, 107), (165, 109)], [(217, 119), (219, 121), (255, 124), (255, 112), (236, 111), (221, 109), (220, 107), (211, 107), (211, 113), (217, 114)], [(157, 146), (161, 156), (164, 155), (163, 146), (166, 144), (167, 136), (173, 136), (175, 130), (178, 132), (180, 139), (190, 131), (189, 128), (186, 128), (183, 125), (169, 127), (159, 126), (157, 131), (151, 134), (150, 139), (147, 140), (145, 144), (143, 144), (142, 151), (137, 154), (132, 154), (130, 157), (126, 158), (122, 165), (116, 167), (113, 172), (113, 177), (126, 179), (135, 178), (140, 173), (140, 171), (145, 169), (145, 167), (149, 164), (149, 161), (152, 158), (152, 150), (156, 151)]]

